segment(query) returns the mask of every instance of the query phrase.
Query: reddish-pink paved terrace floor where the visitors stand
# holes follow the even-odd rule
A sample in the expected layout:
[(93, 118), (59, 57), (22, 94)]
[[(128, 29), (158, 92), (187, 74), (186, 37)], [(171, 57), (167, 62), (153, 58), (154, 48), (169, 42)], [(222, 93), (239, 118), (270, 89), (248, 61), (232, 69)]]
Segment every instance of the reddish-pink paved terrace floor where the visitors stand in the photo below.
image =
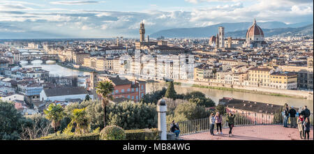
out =
[[(301, 140), (298, 128), (284, 128), (283, 125), (251, 125), (232, 129), (233, 137), (228, 137), (229, 128), (223, 128), (223, 134), (211, 136), (210, 132), (200, 132), (179, 136), (184, 140)], [(313, 126), (310, 131), (313, 140)]]

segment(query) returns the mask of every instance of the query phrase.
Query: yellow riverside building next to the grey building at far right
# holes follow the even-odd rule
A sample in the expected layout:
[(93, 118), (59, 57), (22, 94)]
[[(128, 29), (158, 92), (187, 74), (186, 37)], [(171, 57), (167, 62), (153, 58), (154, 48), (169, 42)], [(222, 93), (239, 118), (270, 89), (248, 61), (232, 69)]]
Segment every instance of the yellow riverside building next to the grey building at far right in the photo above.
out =
[(297, 89), (297, 74), (292, 72), (274, 72), (270, 75), (270, 88)]

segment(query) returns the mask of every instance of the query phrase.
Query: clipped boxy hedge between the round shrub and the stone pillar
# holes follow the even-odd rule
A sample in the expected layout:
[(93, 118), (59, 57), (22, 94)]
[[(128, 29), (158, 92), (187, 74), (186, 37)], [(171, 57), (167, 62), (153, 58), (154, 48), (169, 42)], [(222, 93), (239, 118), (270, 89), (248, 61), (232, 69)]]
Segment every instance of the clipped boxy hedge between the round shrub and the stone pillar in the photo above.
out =
[(157, 128), (142, 130), (126, 130), (127, 140), (160, 140), (160, 131)]

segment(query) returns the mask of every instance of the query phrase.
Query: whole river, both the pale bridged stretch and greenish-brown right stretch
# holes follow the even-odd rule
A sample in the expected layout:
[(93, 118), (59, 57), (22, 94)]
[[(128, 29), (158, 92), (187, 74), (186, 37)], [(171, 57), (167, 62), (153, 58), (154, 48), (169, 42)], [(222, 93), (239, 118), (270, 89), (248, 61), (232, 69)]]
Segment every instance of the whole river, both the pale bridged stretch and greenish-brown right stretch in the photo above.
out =
[[(37, 62), (37, 63), (34, 63)], [(58, 66), (57, 64), (41, 64), (40, 61), (33, 61), (32, 65), (23, 64), (22, 66), (25, 68), (31, 68), (34, 66), (42, 67), (44, 70), (50, 71), (50, 74), (52, 75), (59, 75), (59, 76), (72, 76), (72, 75), (89, 75), (89, 72), (81, 72), (78, 70), (71, 70), (68, 68), (63, 68), (61, 66)], [(82, 79), (79, 79), (81, 82)], [(161, 89), (165, 84), (163, 83), (157, 83), (156, 84), (158, 89)], [(151, 91), (152, 84), (147, 84), (147, 93)], [(191, 91), (201, 91), (202, 93), (205, 93), (208, 98), (211, 98), (211, 100), (214, 100), (216, 104), (218, 103), (218, 100), (223, 97), (231, 97), (231, 98), (237, 98), (241, 100), (250, 100), (250, 101), (256, 101), (256, 102), (267, 102), (271, 104), (276, 105), (284, 105), (286, 102), (290, 106), (294, 107), (303, 107), (304, 105), (308, 106), (308, 109), (313, 112), (313, 100), (306, 100), (302, 98), (286, 98), (286, 97), (280, 97), (280, 96), (274, 96), (274, 95), (262, 95), (262, 94), (255, 94), (255, 93), (245, 93), (245, 92), (239, 92), (239, 91), (222, 91), (217, 89), (209, 89), (209, 88), (196, 88), (196, 87), (190, 87), (190, 86), (179, 86), (174, 85), (175, 90), (177, 93), (187, 93)]]

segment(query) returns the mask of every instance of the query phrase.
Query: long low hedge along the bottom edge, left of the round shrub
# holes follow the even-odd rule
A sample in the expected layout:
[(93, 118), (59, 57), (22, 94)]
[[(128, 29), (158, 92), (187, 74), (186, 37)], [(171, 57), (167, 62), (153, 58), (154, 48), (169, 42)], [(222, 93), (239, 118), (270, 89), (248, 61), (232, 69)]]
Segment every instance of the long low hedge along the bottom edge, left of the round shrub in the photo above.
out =
[(47, 137), (40, 137), (38, 140), (99, 140), (99, 133), (61, 136), (54, 136), (54, 134), (51, 134)]

